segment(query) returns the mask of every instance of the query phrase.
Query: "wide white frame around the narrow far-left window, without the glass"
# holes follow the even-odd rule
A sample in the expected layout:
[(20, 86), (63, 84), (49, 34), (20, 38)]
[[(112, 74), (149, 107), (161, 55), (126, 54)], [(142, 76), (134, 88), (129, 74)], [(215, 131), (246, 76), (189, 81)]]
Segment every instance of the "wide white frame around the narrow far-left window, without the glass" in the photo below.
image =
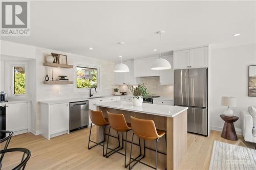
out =
[[(14, 94), (14, 67), (25, 67), (25, 94)], [(5, 61), (5, 90), (8, 99), (28, 99), (28, 62)]]

